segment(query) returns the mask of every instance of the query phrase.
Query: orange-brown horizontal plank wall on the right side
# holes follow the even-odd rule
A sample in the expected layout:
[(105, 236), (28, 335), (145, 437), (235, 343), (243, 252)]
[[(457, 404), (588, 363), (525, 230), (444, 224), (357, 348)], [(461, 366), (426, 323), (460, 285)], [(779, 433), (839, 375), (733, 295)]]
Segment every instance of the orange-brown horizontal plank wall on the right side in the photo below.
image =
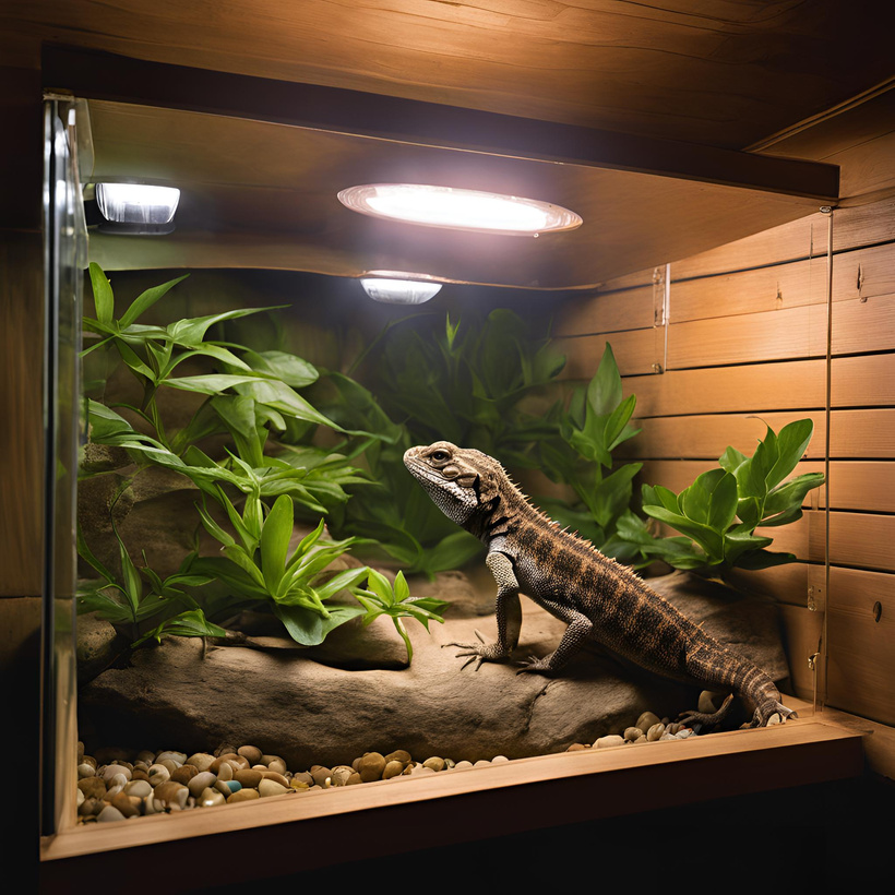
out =
[[(568, 374), (588, 379), (608, 341), (637, 396), (643, 431), (620, 453), (643, 481), (680, 491), (728, 444), (751, 454), (765, 422), (802, 417), (797, 472), (823, 470), (828, 224), (819, 212), (568, 302)], [(828, 486), (766, 533), (799, 561), (742, 580), (780, 604), (797, 695), (813, 695), (828, 610), (827, 704), (895, 725), (895, 201), (837, 210), (832, 232)]]

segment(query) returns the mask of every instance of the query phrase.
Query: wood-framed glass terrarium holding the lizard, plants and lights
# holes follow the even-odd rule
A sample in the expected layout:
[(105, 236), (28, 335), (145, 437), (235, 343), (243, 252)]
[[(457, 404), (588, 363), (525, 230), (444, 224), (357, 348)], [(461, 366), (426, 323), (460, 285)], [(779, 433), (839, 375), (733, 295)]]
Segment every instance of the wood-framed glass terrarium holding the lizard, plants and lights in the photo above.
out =
[[(59, 363), (45, 833), (72, 834), (49, 858), (363, 823), (383, 804), (423, 818), (432, 800), (510, 803), (526, 786), (561, 799), (568, 778), (613, 792), (657, 765), (732, 785), (738, 761), (773, 754), (754, 784), (773, 788), (859, 760), (854, 738), (787, 720), (822, 699), (822, 654), (793, 651), (773, 599), (787, 575), (828, 575), (802, 544), (831, 453), (828, 407), (816, 409), (832, 362), (816, 323), (828, 210), (775, 200), (725, 237), (777, 226), (802, 242), (795, 313), (768, 330), (748, 298), (717, 313), (708, 281), (729, 267), (714, 259), (676, 274), (619, 248), (624, 276), (605, 275), (605, 252), (588, 267), (588, 247), (610, 238), (592, 224), (599, 167), (103, 99), (53, 100), (46, 121)], [(160, 139), (172, 133), (176, 145)], [(472, 193), (478, 219), (415, 229), (379, 207), (358, 215), (323, 195), (335, 153), (355, 159), (343, 188), (381, 184), (383, 170), (406, 187), (395, 172), (414, 160), (415, 180)], [(632, 176), (703, 203), (705, 219), (724, 190), (759, 204), (742, 186), (707, 195)], [(109, 199), (105, 184), (135, 181), (177, 187), (177, 210)], [(486, 194), (523, 199), (522, 232), (497, 212), (485, 223)], [(792, 357), (810, 401), (763, 378)], [(420, 445), (468, 478), (470, 500), (488, 499), (485, 478), (450, 466), (469, 461), (454, 449), (499, 464), (518, 506), (538, 508), (546, 534), (513, 554), (515, 573), (408, 472)], [(761, 668), (779, 708), (731, 709), (739, 678), (656, 675), (671, 632), (652, 622), (631, 651), (585, 636), (568, 664), (544, 665), (578, 620), (560, 592), (581, 608), (608, 587), (560, 571), (561, 532), (625, 570), (619, 598), (645, 580), (668, 619), (688, 620), (684, 645), (717, 645), (708, 665)], [(526, 563), (569, 586), (520, 604)], [(496, 592), (513, 592), (497, 617)], [(810, 610), (822, 625), (823, 600)], [(479, 647), (501, 642), (506, 616), (510, 648)], [(778, 747), (802, 741), (821, 760), (800, 769), (798, 748)], [(713, 769), (718, 756), (729, 764)]]

